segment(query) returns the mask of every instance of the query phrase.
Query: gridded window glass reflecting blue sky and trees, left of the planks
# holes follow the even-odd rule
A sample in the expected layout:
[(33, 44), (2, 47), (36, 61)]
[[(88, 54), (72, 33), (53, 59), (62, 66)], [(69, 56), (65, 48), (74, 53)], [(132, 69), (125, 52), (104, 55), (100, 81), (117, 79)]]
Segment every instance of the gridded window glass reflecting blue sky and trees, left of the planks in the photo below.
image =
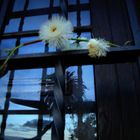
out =
[[(63, 12), (58, 0), (13, 0), (9, 2), (11, 6), (9, 6), (7, 13), (10, 15), (5, 20), (7, 23), (3, 24), (3, 31), (1, 31), (1, 58), (7, 56), (7, 51), (16, 45), (37, 39), (41, 24), (52, 15)], [(75, 28), (75, 37), (91, 38), (90, 2), (88, 0), (67, 1), (66, 5), (67, 17)], [(84, 44), (81, 45), (85, 47)], [(36, 58), (36, 55), (42, 55), (46, 52), (53, 53), (56, 50), (48, 48), (46, 44), (41, 42), (20, 48), (15, 56), (35, 55)], [(53, 98), (48, 96), (53, 92), (54, 77), (57, 73), (55, 69), (55, 64), (38, 68), (32, 66), (29, 68), (26, 65), (23, 69), (14, 68), (14, 70), (8, 71), (0, 79), (2, 87), (0, 91), (2, 137), (4, 136), (5, 139), (40, 138), (51, 140), (51, 137), (56, 134), (53, 125), (52, 130), (46, 129), (46, 126), (55, 121), (56, 117), (47, 109), (47, 104), (51, 105), (50, 102)], [(65, 68), (64, 77), (65, 139), (96, 139), (93, 65), (78, 65), (77, 63), (73, 66), (69, 64)], [(42, 109), (44, 104), (46, 104), (46, 110)], [(87, 127), (89, 131), (86, 131)], [(83, 130), (85, 134), (81, 133)]]

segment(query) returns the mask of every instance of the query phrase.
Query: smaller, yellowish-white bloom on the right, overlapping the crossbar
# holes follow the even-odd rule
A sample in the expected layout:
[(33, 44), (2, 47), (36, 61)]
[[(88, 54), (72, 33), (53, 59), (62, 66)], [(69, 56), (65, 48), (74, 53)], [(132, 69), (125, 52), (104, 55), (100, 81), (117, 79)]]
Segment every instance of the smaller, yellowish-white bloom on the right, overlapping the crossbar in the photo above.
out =
[(106, 56), (110, 47), (107, 41), (103, 39), (90, 39), (87, 45), (90, 57)]

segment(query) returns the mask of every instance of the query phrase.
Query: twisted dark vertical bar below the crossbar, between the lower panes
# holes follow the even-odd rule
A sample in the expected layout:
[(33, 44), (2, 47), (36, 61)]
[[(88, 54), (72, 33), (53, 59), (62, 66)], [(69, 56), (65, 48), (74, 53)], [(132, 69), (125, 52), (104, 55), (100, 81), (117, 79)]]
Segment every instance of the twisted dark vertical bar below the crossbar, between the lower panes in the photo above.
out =
[(61, 60), (58, 60), (56, 63), (55, 74), (52, 140), (64, 140), (65, 113), (63, 93), (65, 89), (65, 75)]

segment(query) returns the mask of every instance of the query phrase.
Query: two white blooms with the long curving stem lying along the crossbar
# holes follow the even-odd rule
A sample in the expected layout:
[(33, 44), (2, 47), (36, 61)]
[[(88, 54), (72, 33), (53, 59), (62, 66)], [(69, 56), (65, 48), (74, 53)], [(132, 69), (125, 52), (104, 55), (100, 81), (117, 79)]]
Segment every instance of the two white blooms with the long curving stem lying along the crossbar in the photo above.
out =
[(118, 46), (104, 39), (93, 38), (89, 40), (87, 38), (72, 38), (72, 35), (73, 25), (69, 20), (66, 20), (62, 16), (52, 17), (52, 19), (41, 26), (38, 40), (20, 44), (9, 51), (6, 60), (0, 66), (0, 72), (5, 70), (8, 60), (13, 56), (17, 49), (40, 41), (45, 41), (49, 47), (56, 47), (60, 50), (70, 50), (70, 40), (85, 42), (89, 51), (89, 56), (93, 58), (106, 56), (110, 46)]

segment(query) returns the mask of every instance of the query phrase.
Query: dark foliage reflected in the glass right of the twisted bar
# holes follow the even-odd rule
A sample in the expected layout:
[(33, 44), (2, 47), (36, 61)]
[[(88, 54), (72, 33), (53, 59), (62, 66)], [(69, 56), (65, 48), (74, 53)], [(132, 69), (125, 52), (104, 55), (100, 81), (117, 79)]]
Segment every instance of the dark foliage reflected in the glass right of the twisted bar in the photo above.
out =
[[(74, 72), (66, 73), (66, 93), (69, 95), (66, 97), (66, 104), (69, 106), (72, 104), (84, 105), (83, 97), (87, 87), (84, 85), (82, 79), (82, 67), (78, 66), (78, 76), (74, 76)], [(71, 108), (74, 110), (73, 108)], [(96, 139), (96, 114), (90, 113), (84, 115), (80, 108), (76, 109), (77, 120), (74, 120), (74, 115), (71, 115), (73, 121), (73, 128), (69, 129), (69, 140), (94, 140)]]

